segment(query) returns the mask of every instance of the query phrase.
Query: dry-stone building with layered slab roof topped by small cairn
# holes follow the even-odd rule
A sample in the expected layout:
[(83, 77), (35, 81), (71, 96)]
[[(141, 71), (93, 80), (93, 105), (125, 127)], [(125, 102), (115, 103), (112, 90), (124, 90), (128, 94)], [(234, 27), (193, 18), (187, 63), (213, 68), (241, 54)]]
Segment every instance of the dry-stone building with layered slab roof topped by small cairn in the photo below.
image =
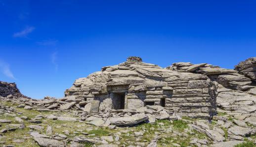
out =
[[(182, 66), (178, 63), (176, 66)], [(206, 64), (190, 66), (193, 72)], [(173, 112), (209, 115), (216, 110), (213, 84), (206, 74), (178, 72), (143, 63), (139, 57), (107, 66), (86, 78), (79, 78), (66, 97), (74, 97), (91, 104), (92, 110), (139, 109), (146, 105), (160, 105)]]

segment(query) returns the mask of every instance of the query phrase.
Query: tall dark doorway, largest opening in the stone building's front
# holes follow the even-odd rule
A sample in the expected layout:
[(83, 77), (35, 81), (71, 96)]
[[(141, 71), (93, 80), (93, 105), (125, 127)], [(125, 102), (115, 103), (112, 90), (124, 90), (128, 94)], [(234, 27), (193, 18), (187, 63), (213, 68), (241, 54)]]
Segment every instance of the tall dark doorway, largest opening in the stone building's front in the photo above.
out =
[(113, 98), (112, 98), (112, 104), (113, 104), (113, 109), (119, 110), (119, 109), (125, 109), (125, 97), (126, 93), (113, 93)]

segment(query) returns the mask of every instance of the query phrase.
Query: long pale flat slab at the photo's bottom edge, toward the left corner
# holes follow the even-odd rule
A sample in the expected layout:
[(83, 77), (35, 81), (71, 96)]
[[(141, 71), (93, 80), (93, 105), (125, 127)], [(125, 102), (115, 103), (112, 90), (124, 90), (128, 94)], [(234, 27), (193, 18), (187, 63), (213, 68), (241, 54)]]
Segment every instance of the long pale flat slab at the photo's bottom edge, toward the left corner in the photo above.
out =
[(47, 138), (34, 138), (34, 140), (39, 144), (41, 147), (65, 147), (63, 142), (47, 139)]

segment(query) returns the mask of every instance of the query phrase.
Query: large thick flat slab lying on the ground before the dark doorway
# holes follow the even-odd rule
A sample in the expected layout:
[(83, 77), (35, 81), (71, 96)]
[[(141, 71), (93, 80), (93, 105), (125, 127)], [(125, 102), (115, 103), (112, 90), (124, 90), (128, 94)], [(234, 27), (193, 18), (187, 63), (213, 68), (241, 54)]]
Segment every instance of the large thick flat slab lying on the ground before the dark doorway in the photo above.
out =
[(127, 117), (112, 117), (109, 119), (110, 124), (120, 126), (120, 125), (133, 125), (140, 123), (142, 121), (148, 120), (147, 115), (132, 115)]

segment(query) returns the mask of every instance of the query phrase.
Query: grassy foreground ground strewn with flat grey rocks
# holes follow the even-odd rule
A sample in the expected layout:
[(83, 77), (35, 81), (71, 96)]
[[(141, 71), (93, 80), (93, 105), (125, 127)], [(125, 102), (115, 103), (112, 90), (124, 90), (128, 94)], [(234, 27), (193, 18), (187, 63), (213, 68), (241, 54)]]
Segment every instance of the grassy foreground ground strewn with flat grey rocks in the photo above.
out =
[[(219, 112), (208, 120), (173, 117), (130, 126), (97, 125), (76, 110), (37, 111), (1, 102), (2, 147), (256, 147), (256, 117)], [(151, 110), (151, 109), (148, 109)], [(156, 111), (156, 110), (152, 110)], [(116, 115), (122, 115), (116, 112)], [(95, 125), (91, 123), (95, 121)]]

